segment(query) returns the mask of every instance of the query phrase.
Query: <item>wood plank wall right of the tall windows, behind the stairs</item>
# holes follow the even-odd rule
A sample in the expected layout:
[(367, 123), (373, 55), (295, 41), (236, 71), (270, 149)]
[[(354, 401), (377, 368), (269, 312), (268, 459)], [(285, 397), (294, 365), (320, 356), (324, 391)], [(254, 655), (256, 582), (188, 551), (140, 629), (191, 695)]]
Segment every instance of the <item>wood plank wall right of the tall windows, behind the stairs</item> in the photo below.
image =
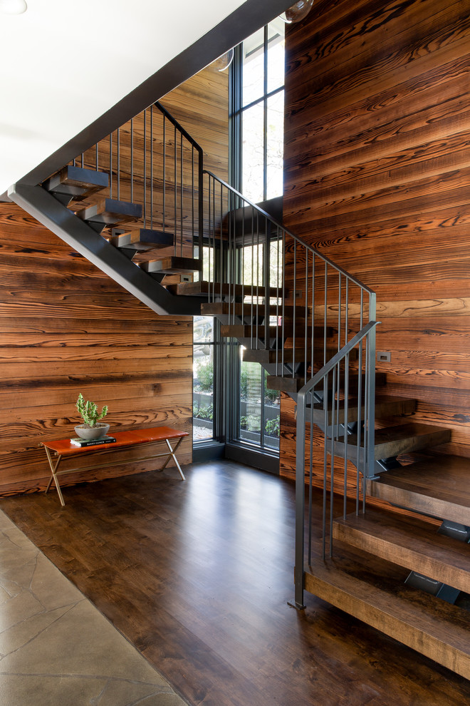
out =
[[(417, 399), (415, 421), (452, 431), (439, 451), (467, 457), (469, 18), (469, 0), (318, 0), (287, 28), (283, 205), (288, 228), (377, 292), (387, 393)], [(315, 448), (319, 469), (316, 434)]]

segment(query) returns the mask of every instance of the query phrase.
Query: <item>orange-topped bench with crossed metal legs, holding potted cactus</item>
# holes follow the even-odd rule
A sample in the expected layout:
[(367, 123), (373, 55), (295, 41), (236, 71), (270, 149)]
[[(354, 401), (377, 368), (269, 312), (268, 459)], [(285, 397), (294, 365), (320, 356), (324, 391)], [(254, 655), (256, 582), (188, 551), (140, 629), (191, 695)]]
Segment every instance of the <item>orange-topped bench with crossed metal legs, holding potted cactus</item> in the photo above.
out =
[[(70, 439), (59, 439), (57, 441), (41, 441), (42, 446), (46, 450), (49, 466), (51, 468), (51, 479), (48, 482), (46, 488), (46, 493), (51, 487), (52, 481), (55, 482), (57, 493), (61, 501), (61, 505), (64, 506), (66, 503), (63, 501), (61, 486), (59, 485), (57, 476), (67, 473), (76, 473), (78, 471), (92, 471), (95, 469), (103, 469), (107, 466), (113, 466), (114, 464), (94, 464), (93, 466), (88, 466), (88, 468), (73, 468), (58, 471), (58, 466), (62, 459), (68, 458), (69, 456), (77, 456), (78, 454), (99, 454), (100, 451), (114, 451), (117, 449), (124, 449), (128, 446), (135, 446), (136, 444), (150, 444), (151, 442), (157, 443), (157, 441), (164, 441), (168, 446), (168, 451), (164, 451), (163, 454), (153, 454), (152, 456), (145, 456), (145, 458), (139, 459), (139, 461), (149, 461), (150, 459), (160, 459), (162, 456), (167, 457), (167, 460), (162, 466), (162, 470), (166, 468), (170, 459), (173, 459), (177, 466), (179, 475), (184, 481), (184, 474), (179, 466), (177, 457), (175, 456), (179, 444), (181, 444), (184, 436), (189, 436), (187, 431), (178, 431), (177, 429), (170, 429), (169, 426), (157, 426), (153, 429), (135, 429), (132, 431), (117, 431), (113, 434), (116, 441), (112, 441), (110, 444), (96, 444), (95, 446), (75, 446), (71, 443)], [(170, 440), (177, 440), (176, 446), (172, 449)], [(57, 459), (53, 459), (52, 453), (54, 452)]]

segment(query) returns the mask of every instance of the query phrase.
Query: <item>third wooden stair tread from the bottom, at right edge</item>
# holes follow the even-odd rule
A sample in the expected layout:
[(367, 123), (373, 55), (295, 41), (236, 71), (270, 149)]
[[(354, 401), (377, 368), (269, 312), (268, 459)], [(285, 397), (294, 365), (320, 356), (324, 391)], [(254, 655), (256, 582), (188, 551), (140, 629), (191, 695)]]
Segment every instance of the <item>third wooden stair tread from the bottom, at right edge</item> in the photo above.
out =
[(366, 481), (367, 495), (470, 526), (470, 459), (439, 454)]

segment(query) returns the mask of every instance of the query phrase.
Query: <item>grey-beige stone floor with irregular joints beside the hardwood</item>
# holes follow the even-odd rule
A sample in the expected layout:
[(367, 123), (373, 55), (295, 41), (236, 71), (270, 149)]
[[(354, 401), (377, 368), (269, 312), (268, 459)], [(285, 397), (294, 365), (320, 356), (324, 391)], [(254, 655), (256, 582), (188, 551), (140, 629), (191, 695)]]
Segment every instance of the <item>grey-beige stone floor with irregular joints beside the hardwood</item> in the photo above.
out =
[(0, 511), (0, 706), (184, 706)]

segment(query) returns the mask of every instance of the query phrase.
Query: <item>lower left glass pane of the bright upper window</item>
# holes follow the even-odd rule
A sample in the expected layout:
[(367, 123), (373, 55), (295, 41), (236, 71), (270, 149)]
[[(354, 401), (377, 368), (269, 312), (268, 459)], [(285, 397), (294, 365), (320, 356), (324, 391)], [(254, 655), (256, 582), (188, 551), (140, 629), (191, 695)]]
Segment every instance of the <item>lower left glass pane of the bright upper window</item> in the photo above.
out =
[(242, 193), (254, 203), (263, 200), (263, 103), (242, 113)]

